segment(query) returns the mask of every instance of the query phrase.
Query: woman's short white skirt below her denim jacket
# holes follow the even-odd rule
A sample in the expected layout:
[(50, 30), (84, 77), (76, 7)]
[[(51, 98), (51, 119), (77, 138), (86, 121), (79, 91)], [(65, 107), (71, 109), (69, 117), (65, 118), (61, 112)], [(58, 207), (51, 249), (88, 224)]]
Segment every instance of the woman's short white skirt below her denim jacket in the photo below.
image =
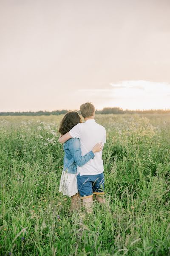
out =
[(69, 197), (78, 193), (76, 173), (68, 173), (62, 170), (59, 192), (62, 192), (63, 195), (68, 195)]

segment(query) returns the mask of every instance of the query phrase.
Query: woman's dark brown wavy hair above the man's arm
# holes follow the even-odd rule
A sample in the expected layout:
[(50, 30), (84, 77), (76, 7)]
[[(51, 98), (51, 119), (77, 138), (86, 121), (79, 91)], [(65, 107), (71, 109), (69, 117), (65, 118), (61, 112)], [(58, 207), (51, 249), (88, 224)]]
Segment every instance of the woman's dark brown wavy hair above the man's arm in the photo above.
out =
[(66, 115), (63, 117), (60, 123), (59, 133), (61, 135), (64, 135), (68, 131), (70, 131), (75, 125), (81, 122), (82, 119), (80, 118), (79, 114), (76, 111), (70, 111), (66, 113)]

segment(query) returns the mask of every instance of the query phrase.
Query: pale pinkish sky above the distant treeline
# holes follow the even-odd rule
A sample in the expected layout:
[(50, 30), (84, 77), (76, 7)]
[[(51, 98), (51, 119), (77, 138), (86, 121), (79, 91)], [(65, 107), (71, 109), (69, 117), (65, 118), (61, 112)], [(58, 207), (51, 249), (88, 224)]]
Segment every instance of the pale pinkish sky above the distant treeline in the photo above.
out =
[(170, 108), (170, 0), (0, 0), (0, 111)]

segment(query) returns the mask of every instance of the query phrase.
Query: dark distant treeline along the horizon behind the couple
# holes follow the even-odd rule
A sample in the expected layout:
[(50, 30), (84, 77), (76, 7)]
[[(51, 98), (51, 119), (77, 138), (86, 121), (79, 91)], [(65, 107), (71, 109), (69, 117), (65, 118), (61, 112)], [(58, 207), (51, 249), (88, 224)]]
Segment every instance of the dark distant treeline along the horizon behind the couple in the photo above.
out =
[[(67, 113), (68, 110), (56, 110), (56, 111), (37, 111), (37, 112), (0, 112), (0, 116), (49, 116), (49, 115), (61, 115)], [(77, 111), (80, 114), (80, 111)], [(154, 113), (170, 113), (170, 109), (167, 110), (122, 110), (122, 108), (103, 108), (102, 110), (96, 110), (96, 114), (154, 114)]]

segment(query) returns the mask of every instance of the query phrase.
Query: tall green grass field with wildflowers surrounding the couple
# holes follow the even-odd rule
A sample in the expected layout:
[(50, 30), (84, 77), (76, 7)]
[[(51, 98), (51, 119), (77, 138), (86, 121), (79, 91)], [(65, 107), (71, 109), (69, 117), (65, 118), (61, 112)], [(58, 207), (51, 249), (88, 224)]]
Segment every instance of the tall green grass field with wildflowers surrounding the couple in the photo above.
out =
[(0, 117), (0, 255), (170, 255), (170, 115), (97, 115), (107, 207), (58, 192), (62, 116)]

